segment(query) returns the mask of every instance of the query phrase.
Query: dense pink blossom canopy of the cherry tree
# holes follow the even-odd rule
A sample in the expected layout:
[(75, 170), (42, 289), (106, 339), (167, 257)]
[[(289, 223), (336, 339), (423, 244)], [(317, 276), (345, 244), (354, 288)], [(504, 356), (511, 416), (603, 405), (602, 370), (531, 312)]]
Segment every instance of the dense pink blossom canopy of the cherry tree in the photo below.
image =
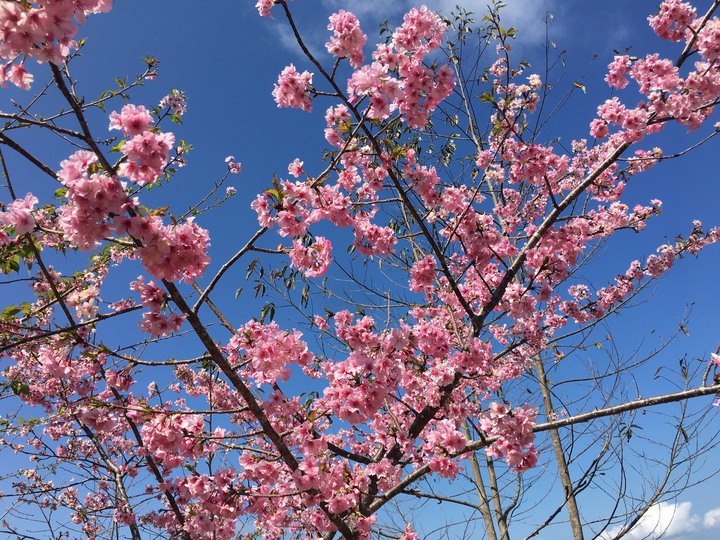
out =
[[(2, 2), (0, 83), (27, 90), (35, 62), (50, 63), (69, 110), (87, 128), (58, 66), (77, 48), (85, 17), (110, 8), (110, 0)], [(257, 9), (292, 21), (284, 1), (261, 0)], [(642, 231), (661, 213), (659, 200), (623, 202), (628, 180), (664, 159), (659, 148), (638, 143), (672, 124), (705, 128), (720, 100), (720, 19), (665, 0), (649, 23), (660, 38), (680, 42), (680, 60), (616, 56), (607, 84), (620, 91), (633, 83), (641, 99), (618, 92), (600, 104), (571, 148), (528, 136), (545, 82), (512, 66), (509, 46), (496, 40), (483, 75), (492, 127), (473, 135), (466, 178), (447, 182), (413, 137), (461, 92), (457, 59), (438, 61), (448, 23), (414, 8), (367, 51), (354, 14), (330, 16), (326, 48), (347, 72), (289, 64), (272, 91), (278, 107), (307, 112), (327, 100), (327, 168), (311, 171), (296, 159), (292, 180), (276, 178), (258, 194), (252, 207), (261, 229), (249, 246), (277, 234), (258, 251), (282, 257), (297, 279), (312, 283), (342, 253), (336, 238), (349, 238), (350, 251), (366, 262), (404, 265), (398, 287), (411, 300), (401, 315), (308, 313), (320, 339), (337, 344), (332, 354), (314, 352), (299, 330), (271, 322), (267, 312), (230, 326), (230, 337), (208, 331), (200, 308), (216, 312), (209, 294), (236, 259), (213, 268), (202, 217), (142, 204), (184, 162), (184, 143), (165, 120), (185, 112), (181, 92), (157, 106), (127, 103), (109, 113), (109, 132), (121, 139), (115, 164), (96, 142), (107, 132), (80, 135), (81, 149), (51, 171), (59, 202), (41, 206), (28, 193), (0, 211), (3, 253), (35, 272), (33, 303), (0, 322), (9, 388), (45, 414), (37, 426), (18, 426), (18, 444), (101, 471), (81, 489), (63, 488), (52, 504), (68, 508), (89, 538), (107, 533), (108, 511), (133, 538), (140, 527), (168, 538), (233, 538), (245, 516), (268, 539), (368, 538), (389, 500), (426, 474), (455, 478), (471, 450), (484, 448), (518, 473), (535, 466), (538, 411), (499, 401), (503, 385), (552, 350), (561, 329), (603, 320), (678, 258), (720, 240), (720, 229), (694, 222), (603, 288), (567, 281), (598, 240)], [(233, 156), (226, 162), (228, 172), (240, 172)], [(324, 232), (334, 229), (348, 235)], [(42, 262), (48, 252), (72, 250), (87, 252), (87, 267), (75, 275)], [(129, 260), (144, 275), (101, 312), (106, 278)], [(217, 274), (208, 277), (209, 269)], [(201, 343), (195, 360), (156, 363), (173, 370), (165, 394), (155, 381), (141, 384), (141, 366), (157, 365), (139, 358), (140, 346), (103, 345), (104, 319), (131, 311), (142, 313), (146, 345), (180, 333)], [(289, 380), (318, 390), (295, 395), (284, 386)], [(223, 466), (200, 467), (213, 459)], [(139, 491), (131, 482), (138, 475), (147, 480)], [(28, 470), (18, 490), (51, 491), (40, 469)], [(418, 538), (412, 524), (402, 538)]]

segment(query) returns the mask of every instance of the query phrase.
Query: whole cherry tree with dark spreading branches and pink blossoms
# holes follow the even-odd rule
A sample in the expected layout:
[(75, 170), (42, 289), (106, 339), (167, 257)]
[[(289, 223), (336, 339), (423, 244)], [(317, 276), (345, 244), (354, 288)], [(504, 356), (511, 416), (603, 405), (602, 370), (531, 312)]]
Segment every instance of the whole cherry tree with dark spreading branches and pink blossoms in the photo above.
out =
[[(28, 92), (0, 112), (0, 443), (23, 463), (5, 478), (4, 531), (411, 540), (430, 501), (509, 538), (530, 479), (551, 475), (560, 498), (531, 535), (560, 519), (574, 538), (627, 533), (714, 448), (720, 351), (663, 372), (675, 388), (649, 397), (625, 385), (662, 345), (642, 357), (594, 341), (606, 363), (583, 375), (571, 362), (720, 229), (692, 221), (599, 287), (575, 276), (603, 242), (662, 219), (660, 200), (623, 202), (636, 175), (716, 143), (720, 0), (706, 4), (651, 14), (674, 56), (619, 53), (612, 96), (566, 148), (540, 142), (553, 140), (550, 67), (514, 63), (497, 9), (474, 23), (417, 7), (376, 45), (339, 10), (323, 56), (298, 30), (301, 2), (260, 0), (304, 55), (268, 91), (278, 107), (324, 111), (327, 149), (321, 166), (300, 156), (269, 179), (248, 209), (257, 231), (211, 260), (203, 219), (226, 210), (240, 163), (228, 156), (187, 212), (149, 202), (188, 159), (175, 134), (185, 94), (133, 103), (157, 76), (152, 57), (96, 97), (73, 77), (80, 25), (111, 2), (1, 2), (0, 83)], [(60, 105), (37, 112), (46, 102)], [(671, 129), (683, 146), (663, 151)], [(28, 174), (54, 197), (30, 192)], [(236, 296), (259, 302), (244, 320), (226, 302), (238, 276)], [(662, 457), (632, 446), (635, 415), (668, 404)], [(634, 472), (633, 452), (645, 459)], [(644, 474), (653, 460), (660, 472)], [(589, 486), (615, 499), (606, 515), (580, 508)]]

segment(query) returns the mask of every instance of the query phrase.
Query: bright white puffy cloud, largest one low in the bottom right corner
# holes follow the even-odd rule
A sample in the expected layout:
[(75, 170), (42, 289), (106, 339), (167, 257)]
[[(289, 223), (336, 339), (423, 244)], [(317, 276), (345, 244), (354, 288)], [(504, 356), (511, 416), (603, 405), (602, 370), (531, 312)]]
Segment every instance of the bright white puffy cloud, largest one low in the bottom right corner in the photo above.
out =
[[(700, 522), (700, 517), (692, 513), (691, 502), (661, 502), (651, 506), (635, 527), (623, 538), (625, 540), (672, 538), (696, 531)], [(615, 527), (604, 534), (603, 538), (615, 538), (615, 535), (621, 530), (622, 527)]]

